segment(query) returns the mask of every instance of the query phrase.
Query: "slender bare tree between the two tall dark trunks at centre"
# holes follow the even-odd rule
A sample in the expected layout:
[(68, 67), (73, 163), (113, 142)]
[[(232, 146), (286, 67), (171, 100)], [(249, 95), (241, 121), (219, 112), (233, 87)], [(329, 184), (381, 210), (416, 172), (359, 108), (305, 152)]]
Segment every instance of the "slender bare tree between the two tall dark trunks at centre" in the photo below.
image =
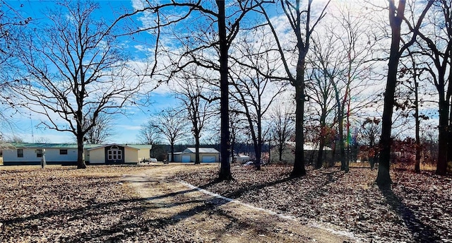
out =
[[(254, 39), (254, 38), (251, 38)], [(249, 126), (249, 136), (254, 145), (256, 161), (254, 165), (257, 170), (261, 170), (261, 153), (264, 142), (263, 121), (268, 109), (273, 101), (285, 92), (285, 83), (271, 80), (269, 76), (275, 76), (277, 71), (270, 64), (270, 49), (264, 43), (255, 46), (256, 40), (246, 40), (239, 42), (243, 57), (234, 57), (230, 69), (232, 90), (231, 100), (240, 104), (235, 112), (242, 114)], [(246, 63), (246, 65), (244, 65)], [(254, 66), (250, 69), (248, 66)], [(258, 71), (259, 70), (259, 71)], [(261, 75), (263, 72), (265, 75)]]

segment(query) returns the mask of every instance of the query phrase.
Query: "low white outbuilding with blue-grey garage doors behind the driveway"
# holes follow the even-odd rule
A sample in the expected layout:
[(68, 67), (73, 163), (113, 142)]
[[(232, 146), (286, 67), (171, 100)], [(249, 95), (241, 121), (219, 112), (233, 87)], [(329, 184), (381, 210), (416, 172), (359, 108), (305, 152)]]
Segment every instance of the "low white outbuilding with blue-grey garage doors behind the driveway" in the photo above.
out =
[[(186, 148), (182, 152), (174, 153), (174, 162), (195, 162), (195, 160), (195, 148)], [(201, 162), (219, 162), (220, 152), (215, 148), (199, 148), (199, 160), (201, 160)], [(168, 153), (168, 161), (172, 161), (171, 153)]]

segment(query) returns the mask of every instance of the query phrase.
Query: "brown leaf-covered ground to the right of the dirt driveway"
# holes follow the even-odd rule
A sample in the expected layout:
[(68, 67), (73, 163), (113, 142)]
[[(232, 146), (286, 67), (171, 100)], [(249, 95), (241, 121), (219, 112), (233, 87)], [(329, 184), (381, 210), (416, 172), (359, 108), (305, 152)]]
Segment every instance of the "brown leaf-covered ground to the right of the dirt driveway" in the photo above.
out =
[(293, 215), (302, 223), (347, 230), (363, 242), (452, 242), (452, 179), (432, 172), (393, 172), (391, 191), (374, 185), (376, 170), (232, 167), (234, 180), (216, 182), (218, 168), (177, 178), (244, 203)]

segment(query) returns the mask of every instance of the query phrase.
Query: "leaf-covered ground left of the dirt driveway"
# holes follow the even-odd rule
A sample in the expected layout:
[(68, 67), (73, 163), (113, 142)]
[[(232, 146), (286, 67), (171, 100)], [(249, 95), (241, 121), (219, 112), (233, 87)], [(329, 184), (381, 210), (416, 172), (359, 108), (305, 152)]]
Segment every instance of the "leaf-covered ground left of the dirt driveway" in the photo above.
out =
[(0, 242), (198, 242), (121, 183), (146, 167), (0, 168)]

